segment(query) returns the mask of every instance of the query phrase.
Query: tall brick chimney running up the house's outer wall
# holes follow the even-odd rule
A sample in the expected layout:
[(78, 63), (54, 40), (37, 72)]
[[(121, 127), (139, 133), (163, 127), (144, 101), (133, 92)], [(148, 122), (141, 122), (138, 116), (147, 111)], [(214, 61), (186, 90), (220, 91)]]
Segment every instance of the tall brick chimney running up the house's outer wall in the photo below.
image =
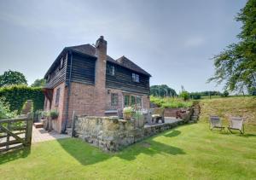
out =
[(95, 110), (97, 116), (105, 115), (107, 41), (101, 36), (96, 41)]

